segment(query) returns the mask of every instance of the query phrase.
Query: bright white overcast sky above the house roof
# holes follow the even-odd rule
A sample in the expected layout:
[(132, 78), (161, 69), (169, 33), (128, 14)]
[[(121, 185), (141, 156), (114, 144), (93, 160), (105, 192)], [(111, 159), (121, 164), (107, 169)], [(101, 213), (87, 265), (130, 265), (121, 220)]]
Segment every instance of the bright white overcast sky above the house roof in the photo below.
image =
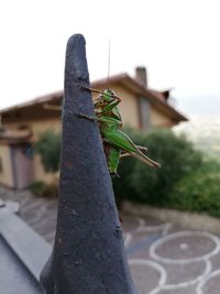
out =
[(63, 89), (68, 37), (84, 34), (90, 80), (146, 66), (183, 113), (220, 113), (219, 0), (0, 2), (0, 108)]

